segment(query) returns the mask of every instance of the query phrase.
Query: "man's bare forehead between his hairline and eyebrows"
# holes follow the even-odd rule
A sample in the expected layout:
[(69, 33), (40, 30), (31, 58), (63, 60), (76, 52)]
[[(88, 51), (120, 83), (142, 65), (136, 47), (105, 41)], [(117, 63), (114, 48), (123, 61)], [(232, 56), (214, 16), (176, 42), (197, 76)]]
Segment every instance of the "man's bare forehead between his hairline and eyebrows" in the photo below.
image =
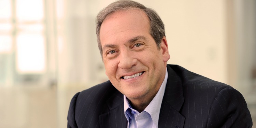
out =
[(103, 21), (100, 29), (100, 41), (114, 41), (117, 38), (131, 38), (149, 34), (150, 20), (140, 9), (119, 10)]

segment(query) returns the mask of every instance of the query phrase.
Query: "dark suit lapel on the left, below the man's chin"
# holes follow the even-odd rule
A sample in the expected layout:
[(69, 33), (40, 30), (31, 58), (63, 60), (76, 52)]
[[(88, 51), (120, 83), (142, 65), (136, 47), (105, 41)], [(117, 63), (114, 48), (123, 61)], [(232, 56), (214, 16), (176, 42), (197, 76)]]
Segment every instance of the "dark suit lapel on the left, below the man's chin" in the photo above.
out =
[(116, 91), (107, 104), (110, 111), (99, 116), (100, 128), (126, 128), (123, 94)]

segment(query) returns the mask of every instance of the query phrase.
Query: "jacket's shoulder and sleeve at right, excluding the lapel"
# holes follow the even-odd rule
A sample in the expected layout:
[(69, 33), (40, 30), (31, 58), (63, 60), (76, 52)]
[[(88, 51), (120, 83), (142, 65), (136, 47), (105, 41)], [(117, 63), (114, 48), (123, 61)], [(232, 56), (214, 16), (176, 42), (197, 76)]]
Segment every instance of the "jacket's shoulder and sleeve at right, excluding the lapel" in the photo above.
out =
[[(182, 81), (184, 96), (182, 113), (185, 117), (191, 117), (190, 121), (206, 123), (207, 127), (245, 127), (247, 125), (250, 127), (252, 125), (247, 104), (239, 91), (181, 66), (168, 66)], [(194, 119), (198, 116), (201, 120)]]

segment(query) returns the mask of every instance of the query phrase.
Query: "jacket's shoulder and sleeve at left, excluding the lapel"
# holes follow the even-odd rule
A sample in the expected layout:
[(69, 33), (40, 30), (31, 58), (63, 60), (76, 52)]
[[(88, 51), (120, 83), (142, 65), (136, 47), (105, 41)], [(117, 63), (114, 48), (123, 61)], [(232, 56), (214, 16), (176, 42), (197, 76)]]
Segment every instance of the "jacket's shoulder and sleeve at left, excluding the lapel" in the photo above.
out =
[(110, 81), (98, 84), (74, 95), (68, 112), (68, 126), (96, 126), (99, 115), (108, 111), (107, 101), (118, 93)]

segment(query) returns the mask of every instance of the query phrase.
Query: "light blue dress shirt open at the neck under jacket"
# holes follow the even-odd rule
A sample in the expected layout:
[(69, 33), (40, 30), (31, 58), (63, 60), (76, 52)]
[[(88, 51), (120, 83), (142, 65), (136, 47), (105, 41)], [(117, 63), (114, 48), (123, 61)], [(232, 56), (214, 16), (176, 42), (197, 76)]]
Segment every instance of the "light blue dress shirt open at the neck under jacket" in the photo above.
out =
[(131, 105), (126, 99), (126, 96), (124, 95), (124, 113), (128, 121), (127, 128), (158, 128), (159, 113), (163, 95), (165, 94), (167, 77), (168, 73), (166, 68), (165, 79), (163, 80), (161, 87), (150, 104), (148, 104), (146, 109), (141, 113), (135, 109), (132, 109)]

